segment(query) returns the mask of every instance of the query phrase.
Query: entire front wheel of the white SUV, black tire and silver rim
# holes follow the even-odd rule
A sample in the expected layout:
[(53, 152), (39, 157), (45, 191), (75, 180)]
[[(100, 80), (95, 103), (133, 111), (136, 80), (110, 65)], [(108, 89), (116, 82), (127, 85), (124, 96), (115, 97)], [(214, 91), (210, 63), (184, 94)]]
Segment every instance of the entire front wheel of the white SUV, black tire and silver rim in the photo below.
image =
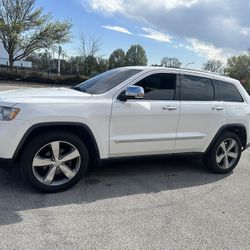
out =
[(67, 131), (36, 136), (25, 146), (21, 171), (29, 184), (44, 192), (61, 192), (86, 173), (89, 154), (84, 142)]

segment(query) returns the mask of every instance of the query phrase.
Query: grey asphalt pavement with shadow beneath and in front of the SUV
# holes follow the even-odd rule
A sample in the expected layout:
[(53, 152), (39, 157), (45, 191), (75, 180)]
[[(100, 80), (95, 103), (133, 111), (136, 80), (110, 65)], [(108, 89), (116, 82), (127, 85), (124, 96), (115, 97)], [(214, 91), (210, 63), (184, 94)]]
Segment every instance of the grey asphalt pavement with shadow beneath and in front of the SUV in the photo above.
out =
[(112, 161), (57, 194), (0, 170), (1, 250), (250, 249), (249, 236), (249, 150), (227, 175), (193, 157)]

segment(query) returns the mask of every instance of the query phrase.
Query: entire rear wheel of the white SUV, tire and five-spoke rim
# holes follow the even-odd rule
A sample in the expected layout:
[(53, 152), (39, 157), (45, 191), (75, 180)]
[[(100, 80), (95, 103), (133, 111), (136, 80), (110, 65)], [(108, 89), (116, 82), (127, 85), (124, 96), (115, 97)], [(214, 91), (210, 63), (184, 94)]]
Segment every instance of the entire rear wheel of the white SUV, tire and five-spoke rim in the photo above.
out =
[(204, 163), (213, 173), (226, 174), (237, 166), (241, 151), (240, 138), (234, 133), (225, 132), (215, 140), (211, 149), (205, 155)]

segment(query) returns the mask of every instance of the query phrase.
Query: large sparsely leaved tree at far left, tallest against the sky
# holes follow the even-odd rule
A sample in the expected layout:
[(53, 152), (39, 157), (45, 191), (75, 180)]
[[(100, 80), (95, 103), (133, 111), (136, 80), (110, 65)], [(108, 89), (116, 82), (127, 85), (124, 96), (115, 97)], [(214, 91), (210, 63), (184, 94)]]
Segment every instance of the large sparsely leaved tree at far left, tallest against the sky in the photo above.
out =
[(0, 40), (9, 55), (10, 68), (32, 52), (70, 40), (71, 23), (53, 21), (35, 7), (35, 0), (0, 1)]

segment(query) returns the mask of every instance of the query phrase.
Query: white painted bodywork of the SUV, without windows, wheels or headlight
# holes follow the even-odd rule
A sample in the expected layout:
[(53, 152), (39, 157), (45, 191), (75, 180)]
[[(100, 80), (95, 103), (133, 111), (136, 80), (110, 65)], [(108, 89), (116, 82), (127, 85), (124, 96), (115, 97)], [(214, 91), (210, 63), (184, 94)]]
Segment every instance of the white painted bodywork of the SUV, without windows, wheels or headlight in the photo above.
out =
[[(39, 88), (0, 92), (0, 106), (15, 106), (15, 120), (0, 122), (0, 158), (12, 158), (31, 126), (50, 122), (81, 123), (96, 139), (100, 158), (165, 153), (205, 152), (220, 128), (241, 124), (250, 143), (250, 97), (229, 77), (186, 69), (133, 67), (141, 72), (100, 95), (69, 88)], [(117, 96), (127, 86), (154, 73), (191, 74), (234, 84), (243, 103), (146, 101), (122, 103)], [(166, 112), (164, 106), (175, 106)], [(214, 106), (224, 107), (222, 112)], [(6, 143), (8, 142), (8, 147)]]

